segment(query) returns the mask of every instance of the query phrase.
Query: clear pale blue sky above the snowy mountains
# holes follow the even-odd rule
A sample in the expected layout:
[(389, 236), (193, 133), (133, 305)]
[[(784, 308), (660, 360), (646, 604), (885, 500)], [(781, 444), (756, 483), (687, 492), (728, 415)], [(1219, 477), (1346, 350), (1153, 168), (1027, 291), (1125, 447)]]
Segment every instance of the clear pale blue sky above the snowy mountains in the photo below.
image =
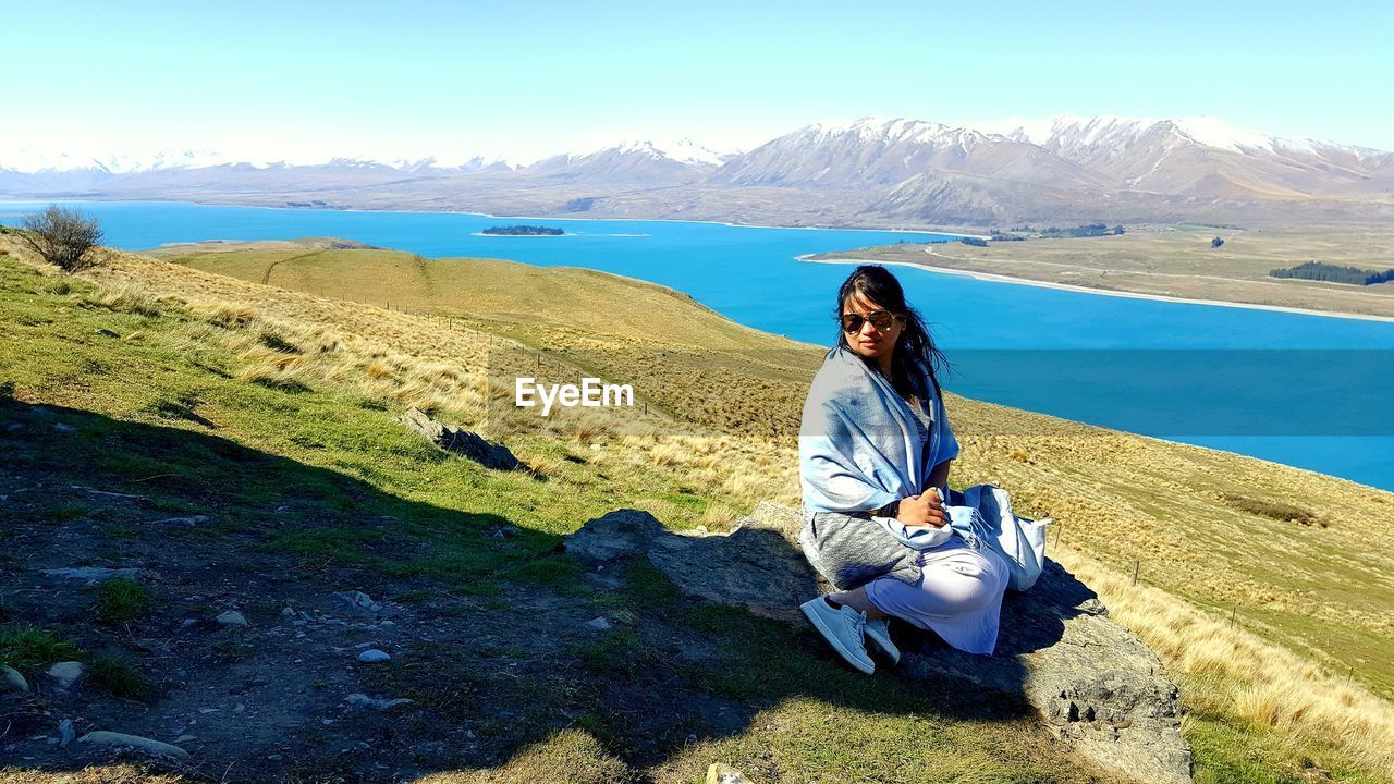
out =
[[(1394, 149), (1391, 4), (7, 3), (6, 148), (535, 156), (824, 119), (1225, 119)], [(86, 95), (70, 100), (66, 95)]]

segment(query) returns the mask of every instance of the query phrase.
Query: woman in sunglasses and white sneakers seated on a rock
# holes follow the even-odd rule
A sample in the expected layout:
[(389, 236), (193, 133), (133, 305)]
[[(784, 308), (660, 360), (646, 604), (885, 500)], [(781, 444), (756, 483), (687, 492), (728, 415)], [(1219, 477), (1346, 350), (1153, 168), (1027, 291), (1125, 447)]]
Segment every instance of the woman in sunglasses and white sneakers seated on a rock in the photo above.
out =
[(799, 478), (800, 543), (838, 593), (802, 610), (867, 674), (875, 671), (867, 642), (892, 664), (901, 658), (889, 618), (993, 653), (1008, 572), (947, 525), (942, 499), (959, 445), (934, 375), (944, 354), (884, 266), (856, 268), (835, 312), (838, 343), (804, 402)]

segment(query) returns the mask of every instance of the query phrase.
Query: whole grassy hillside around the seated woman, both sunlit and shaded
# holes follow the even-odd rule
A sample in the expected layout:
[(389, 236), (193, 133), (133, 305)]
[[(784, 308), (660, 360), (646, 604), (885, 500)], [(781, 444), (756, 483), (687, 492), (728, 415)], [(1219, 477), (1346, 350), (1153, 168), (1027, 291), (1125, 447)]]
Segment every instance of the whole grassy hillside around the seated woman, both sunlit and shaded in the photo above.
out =
[[(809, 635), (686, 603), (648, 571), (598, 583), (551, 554), (558, 534), (619, 506), (648, 509), (673, 527), (722, 527), (754, 501), (793, 502), (790, 423), (818, 349), (613, 276), (321, 250), (185, 250), (176, 254), (183, 266), (112, 254), (91, 285), (0, 261), (0, 384), (14, 400), (6, 421), (21, 425), (0, 434), (14, 455), (0, 495), (25, 505), (4, 518), (17, 544), (10, 551), (25, 552), (0, 564), (10, 589), (0, 597), (25, 603), (10, 608), (11, 619), (39, 621), (93, 656), (127, 663), (152, 681), (156, 696), (145, 699), (166, 706), (180, 704), (185, 688), (195, 693), (198, 678), (226, 678), (213, 661), (180, 681), (171, 660), (219, 644), (224, 670), (252, 672), (283, 667), (290, 650), (227, 629), (215, 632), (229, 632), (223, 639), (201, 628), (205, 636), (185, 635), (176, 631), (180, 618), (240, 604), (258, 629), (275, 625), (286, 597), (305, 607), (337, 590), (386, 597), (420, 635), (401, 643), (408, 653), (382, 671), (316, 653), (305, 668), (323, 674), (302, 686), (335, 700), (365, 689), (413, 696), (450, 716), (452, 731), (473, 732), (463, 746), (442, 738), (456, 755), (442, 756), (420, 746), (443, 730), (411, 724), (417, 735), (403, 759), (418, 770), (506, 764), (526, 780), (538, 766), (577, 764), (686, 781), (725, 759), (764, 781), (1101, 777), (1061, 756), (1020, 706), (963, 716), (949, 696), (842, 672)], [(314, 272), (326, 254), (337, 262)], [(488, 273), (460, 272), (468, 265)], [(290, 290), (261, 285), (268, 269), (273, 286)], [(425, 292), (422, 280), (457, 293), (413, 301), (407, 293)], [(315, 296), (321, 286), (326, 294), (343, 286), (347, 300), (390, 293), (434, 315)], [(530, 315), (538, 301), (549, 303), (541, 324)], [(588, 321), (594, 310), (570, 307), (579, 303), (606, 303), (611, 318)], [(510, 416), (488, 375), (538, 352), (546, 374), (574, 378), (598, 367), (636, 384), (654, 406), (647, 416), (546, 423)], [(726, 375), (712, 381), (714, 372)], [(756, 384), (783, 395), (751, 406)], [(537, 476), (487, 472), (421, 446), (392, 421), (407, 405), (506, 434)], [(1391, 688), (1394, 547), (1380, 538), (1390, 494), (956, 398), (949, 409), (965, 444), (955, 484), (994, 481), (1062, 520), (1052, 555), (1087, 575), (1178, 672), (1200, 780), (1298, 781), (1312, 767), (1338, 780), (1394, 776), (1380, 744), (1394, 731), (1388, 704), (1359, 688), (1386, 696)], [(47, 491), (26, 495), (38, 485)], [(144, 501), (95, 502), (71, 485)], [(1326, 527), (1269, 516), (1288, 512), (1277, 504), (1313, 498), (1330, 504), (1302, 511)], [(155, 525), (210, 511), (209, 525), (188, 530)], [(74, 550), (74, 537), (91, 544)], [(1119, 576), (1138, 554), (1146, 568), (1135, 587)], [(117, 632), (96, 622), (98, 597), (81, 590), (61, 607), (14, 590), (38, 566), (75, 561), (145, 565), (149, 614)], [(237, 564), (233, 589), (210, 591), (197, 564)], [(268, 573), (294, 579), (256, 585)], [(584, 631), (595, 617), (613, 628)], [(131, 644), (164, 635), (173, 635), (170, 650)], [(1345, 685), (1348, 674), (1356, 685)], [(664, 709), (634, 709), (654, 703)], [(113, 704), (103, 710), (117, 714)], [(519, 724), (530, 728), (521, 738), (510, 730)], [(330, 746), (343, 731), (304, 739), (305, 748), (323, 744), (305, 755), (305, 774), (367, 764), (368, 755), (336, 759)]]

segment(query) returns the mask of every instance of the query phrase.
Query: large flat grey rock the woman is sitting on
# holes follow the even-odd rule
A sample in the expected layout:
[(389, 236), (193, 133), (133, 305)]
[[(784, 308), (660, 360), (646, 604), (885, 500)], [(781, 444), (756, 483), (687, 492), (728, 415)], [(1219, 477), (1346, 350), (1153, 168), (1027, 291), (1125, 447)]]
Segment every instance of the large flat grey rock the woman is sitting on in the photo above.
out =
[[(797, 511), (771, 502), (729, 534), (708, 536), (669, 532), (647, 512), (619, 509), (565, 537), (565, 547), (597, 568), (647, 557), (689, 596), (803, 624), (799, 604), (828, 587), (800, 552), (802, 525)], [(1157, 656), (1058, 564), (1047, 562), (1032, 590), (1006, 594), (994, 656), (928, 643), (905, 650), (901, 667), (941, 693), (969, 682), (1020, 696), (1086, 756), (1142, 781), (1190, 781), (1177, 685)]]

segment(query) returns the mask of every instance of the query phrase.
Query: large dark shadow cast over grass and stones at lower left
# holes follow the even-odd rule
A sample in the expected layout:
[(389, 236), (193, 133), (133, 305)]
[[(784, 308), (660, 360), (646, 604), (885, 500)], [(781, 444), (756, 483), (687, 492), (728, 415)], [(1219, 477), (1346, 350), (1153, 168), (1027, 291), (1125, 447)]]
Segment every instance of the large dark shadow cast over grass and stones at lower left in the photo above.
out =
[[(234, 678), (234, 664), (247, 661), (206, 656), (206, 638), (180, 638), (187, 607), (156, 608), (123, 632), (103, 628), (43, 596), (39, 566), (139, 568), (169, 601), (227, 586), (244, 596), (263, 593), (265, 619), (256, 619), (244, 642), (265, 672), (298, 667), (256, 661), (268, 654), (255, 635), (289, 624), (279, 618), (277, 603), (291, 591), (322, 597), (361, 586), (417, 621), (390, 663), (351, 671), (357, 691), (407, 698), (413, 706), (357, 713), (330, 728), (321, 717), (337, 716), (326, 711), (342, 710), (335, 707), (342, 695), (326, 695), (322, 710), (305, 710), (298, 706), (304, 695), (268, 692), (262, 699), (287, 703), (266, 707), (282, 717), (270, 741), (259, 732), (201, 732), (195, 773), (222, 774), (237, 762), (229, 781), (238, 780), (238, 769), (243, 780), (266, 780), (382, 776), (376, 764), (413, 776), (491, 767), (566, 728), (585, 730), (609, 753), (643, 769), (694, 741), (746, 732), (758, 713), (789, 700), (913, 721), (1032, 716), (1011, 693), (952, 681), (926, 688), (894, 671), (874, 678), (850, 672), (807, 628), (691, 598), (644, 558), (620, 559), (608, 572), (587, 569), (562, 552), (559, 537), (516, 529), (506, 518), (408, 501), (344, 473), (206, 432), (0, 399), (0, 537), (20, 555), (0, 559), (0, 598), (8, 614), (0, 621), (49, 626), (85, 649), (138, 658), (144, 649), (132, 639), (167, 632), (170, 658), (195, 670), (188, 689), (197, 681), (224, 685)], [(466, 463), (461, 472), (481, 472), (488, 487), (488, 472)], [(468, 506), (470, 498), (460, 504)], [(72, 505), (88, 511), (46, 516)], [(208, 522), (169, 522), (190, 515)], [(105, 541), (100, 526), (107, 516), (125, 520), (137, 534)], [(786, 557), (802, 558), (782, 538), (769, 538), (776, 537), (772, 532), (747, 536), (758, 536), (760, 548), (782, 547)], [(749, 541), (732, 537), (730, 544)], [(605, 621), (590, 624), (595, 618)], [(1050, 635), (1040, 626), (1029, 639), (1013, 639), (1006, 653), (1050, 644)], [(902, 640), (924, 656), (952, 656), (924, 635)], [(304, 656), (314, 653), (307, 647)], [(1015, 660), (993, 661), (1001, 678), (1019, 684)], [(167, 672), (152, 675), (159, 688), (146, 704), (98, 696), (81, 714), (91, 723), (85, 730), (169, 739), (159, 709), (178, 691)], [(71, 709), (66, 699), (42, 693), (31, 703), (49, 711), (42, 716), (11, 703), (4, 742), (53, 732), (49, 716)], [(286, 744), (296, 752), (283, 753)], [(89, 751), (26, 739), (7, 763), (29, 755), (33, 762), (20, 767), (78, 770), (91, 762), (84, 756)]]

